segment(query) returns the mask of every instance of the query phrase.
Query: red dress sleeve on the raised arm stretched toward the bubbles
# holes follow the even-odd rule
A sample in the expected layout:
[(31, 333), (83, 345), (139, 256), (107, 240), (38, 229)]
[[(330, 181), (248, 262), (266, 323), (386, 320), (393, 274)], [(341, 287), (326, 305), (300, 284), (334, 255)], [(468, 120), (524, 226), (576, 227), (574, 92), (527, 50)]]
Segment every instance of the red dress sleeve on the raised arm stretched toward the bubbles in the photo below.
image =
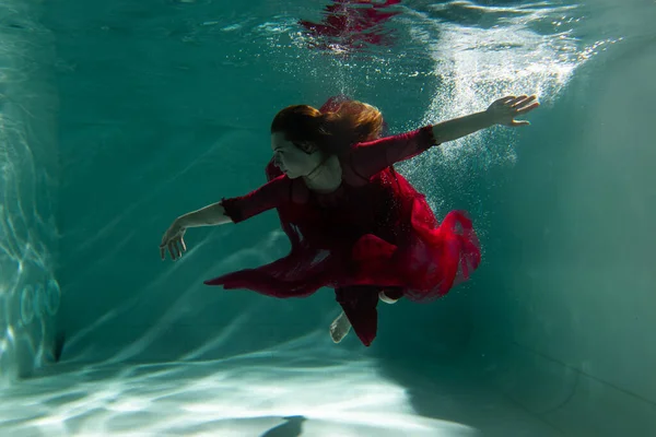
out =
[(359, 176), (370, 179), (390, 165), (417, 156), (433, 145), (437, 145), (433, 127), (425, 126), (411, 132), (355, 144), (350, 153), (350, 164)]

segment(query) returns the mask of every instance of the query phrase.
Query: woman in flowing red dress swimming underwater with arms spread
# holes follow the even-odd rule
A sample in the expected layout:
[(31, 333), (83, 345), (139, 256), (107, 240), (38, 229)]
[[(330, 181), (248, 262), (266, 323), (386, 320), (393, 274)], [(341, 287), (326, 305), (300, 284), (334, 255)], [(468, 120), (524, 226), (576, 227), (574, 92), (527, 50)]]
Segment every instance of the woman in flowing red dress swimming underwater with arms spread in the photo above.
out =
[(174, 220), (161, 257), (168, 250), (175, 260), (186, 251), (189, 227), (239, 223), (276, 209), (290, 253), (204, 283), (278, 298), (331, 287), (343, 310), (330, 327), (332, 340), (340, 342), (352, 327), (368, 346), (379, 299), (444, 296), (469, 277), (481, 257), (467, 214), (450, 211), (438, 223), (394, 164), (495, 125), (528, 125), (515, 118), (538, 106), (536, 96), (506, 96), (484, 111), (385, 138), (380, 111), (365, 103), (338, 96), (320, 109), (289, 106), (271, 123), (269, 181)]

